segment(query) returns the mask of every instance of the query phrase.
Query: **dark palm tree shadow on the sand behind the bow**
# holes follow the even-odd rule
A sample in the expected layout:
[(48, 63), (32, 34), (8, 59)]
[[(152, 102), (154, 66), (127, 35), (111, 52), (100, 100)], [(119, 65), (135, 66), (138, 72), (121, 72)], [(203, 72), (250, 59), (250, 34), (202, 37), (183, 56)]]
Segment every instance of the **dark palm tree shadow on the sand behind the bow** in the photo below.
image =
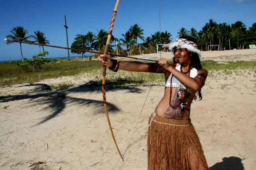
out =
[[(141, 93), (141, 89), (136, 86), (128, 86), (126, 85), (128, 82), (120, 80), (116, 80), (116, 82), (106, 82), (106, 94), (108, 94), (109, 91), (118, 91), (121, 89), (127, 90), (126, 93)], [(129, 81), (131, 83), (131, 81)], [(135, 84), (141, 83), (141, 82), (133, 82)], [(68, 96), (69, 93), (84, 93), (84, 96), (86, 97), (87, 93), (92, 92), (99, 92), (102, 93), (102, 82), (97, 81), (90, 81), (88, 83), (85, 83), (84, 85), (80, 85), (79, 87), (70, 88), (63, 91), (53, 91), (49, 85), (47, 84), (29, 84), (29, 85), (23, 85), (23, 86), (35, 86), (34, 90), (31, 91), (28, 94), (20, 94), (20, 95), (9, 95), (9, 96), (0, 96), (0, 102), (9, 102), (9, 101), (17, 101), (17, 100), (23, 100), (23, 99), (30, 99), (33, 101), (29, 106), (35, 106), (35, 105), (47, 105), (47, 109), (52, 110), (52, 114), (49, 116), (44, 117), (44, 120), (39, 122), (37, 125), (42, 124), (44, 122), (47, 122), (48, 120), (54, 118), (55, 116), (58, 116), (61, 111), (64, 110), (67, 104), (74, 104), (74, 105), (94, 105), (95, 108), (94, 112), (92, 114), (97, 113), (104, 113), (104, 105), (102, 100), (93, 100), (93, 99), (84, 99), (84, 98), (77, 98), (73, 96)], [(21, 86), (20, 86), (21, 87)], [(111, 101), (108, 101), (107, 98), (107, 105), (108, 105), (108, 111), (111, 113), (116, 113), (120, 109), (114, 105)]]

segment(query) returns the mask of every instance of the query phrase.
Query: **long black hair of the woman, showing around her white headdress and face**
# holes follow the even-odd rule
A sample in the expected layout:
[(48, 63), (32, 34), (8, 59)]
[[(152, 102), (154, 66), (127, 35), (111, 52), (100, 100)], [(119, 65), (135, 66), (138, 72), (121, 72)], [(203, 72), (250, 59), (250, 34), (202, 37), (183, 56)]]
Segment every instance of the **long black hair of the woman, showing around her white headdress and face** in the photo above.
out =
[[(186, 40), (193, 41), (193, 42), (195, 42), (197, 44), (197, 40), (194, 37), (183, 36), (183, 37), (180, 37), (180, 38), (184, 38)], [(196, 68), (197, 70), (201, 70), (202, 69), (202, 65), (201, 65), (201, 61), (200, 61), (200, 58), (199, 58), (198, 54), (195, 53), (195, 52), (190, 52), (190, 53), (192, 54), (190, 66), (194, 66), (194, 68)], [(172, 58), (172, 61), (173, 61), (174, 64), (177, 63), (175, 57)], [(201, 94), (201, 89), (198, 91), (198, 96), (199, 96), (199, 100), (203, 99), (202, 94)], [(197, 99), (196, 95), (194, 96), (194, 99), (195, 100)]]

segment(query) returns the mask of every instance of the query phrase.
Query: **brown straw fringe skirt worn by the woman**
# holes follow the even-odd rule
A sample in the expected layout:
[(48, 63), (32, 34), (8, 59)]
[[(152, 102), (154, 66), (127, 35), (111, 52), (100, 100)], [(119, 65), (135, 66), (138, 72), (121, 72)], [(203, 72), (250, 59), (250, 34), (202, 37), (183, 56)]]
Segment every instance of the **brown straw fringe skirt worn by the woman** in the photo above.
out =
[(209, 170), (190, 119), (166, 119), (152, 113), (148, 125), (148, 170)]

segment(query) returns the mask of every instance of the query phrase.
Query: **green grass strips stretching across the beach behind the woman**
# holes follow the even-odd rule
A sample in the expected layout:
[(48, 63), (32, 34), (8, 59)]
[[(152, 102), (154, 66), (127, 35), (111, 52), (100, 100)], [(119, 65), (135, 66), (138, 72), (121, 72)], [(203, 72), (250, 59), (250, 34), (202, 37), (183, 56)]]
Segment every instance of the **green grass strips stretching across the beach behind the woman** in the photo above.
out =
[[(127, 61), (127, 60), (125, 60)], [(238, 61), (229, 62), (229, 64), (218, 64), (212, 60), (202, 61), (202, 66), (208, 71), (224, 70), (226, 74), (230, 74), (230, 70), (236, 69), (256, 69), (256, 61)], [(73, 76), (78, 74), (89, 73), (90, 85), (101, 84), (101, 70), (102, 66), (99, 65), (97, 60), (76, 62), (71, 60), (70, 62), (57, 62), (54, 65), (45, 64), (42, 65), (38, 71), (24, 70), (17, 65), (10, 63), (0, 63), (0, 87), (22, 84), (22, 83), (35, 83), (43, 79), (52, 79), (63, 76)], [(108, 70), (108, 69), (107, 69)], [(256, 74), (256, 71), (252, 74)], [(154, 77), (154, 84), (163, 84), (163, 74), (154, 73), (138, 73), (138, 72), (127, 72), (118, 71), (112, 73), (108, 71), (107, 82), (116, 85), (140, 85), (140, 84), (151, 84)], [(111, 83), (112, 82), (112, 83)], [(63, 83), (58, 85), (50, 85), (52, 89), (64, 90), (71, 87), (72, 83)]]

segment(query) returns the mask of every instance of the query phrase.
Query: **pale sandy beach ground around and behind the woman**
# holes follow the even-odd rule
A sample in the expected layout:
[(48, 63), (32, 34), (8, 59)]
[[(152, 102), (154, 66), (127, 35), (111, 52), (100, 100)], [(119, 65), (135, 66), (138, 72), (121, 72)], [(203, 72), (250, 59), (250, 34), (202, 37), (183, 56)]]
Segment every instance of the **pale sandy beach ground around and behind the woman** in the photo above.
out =
[[(172, 58), (171, 53), (159, 55)], [(208, 59), (255, 61), (256, 49), (203, 51), (202, 60)], [(107, 87), (122, 161), (108, 127), (102, 89), (85, 85), (93, 76), (0, 88), (0, 170), (147, 170), (148, 118), (163, 96), (164, 82)], [(74, 86), (48, 90), (47, 85), (60, 82)], [(202, 95), (192, 103), (191, 119), (210, 169), (256, 170), (256, 68), (209, 71)]]

